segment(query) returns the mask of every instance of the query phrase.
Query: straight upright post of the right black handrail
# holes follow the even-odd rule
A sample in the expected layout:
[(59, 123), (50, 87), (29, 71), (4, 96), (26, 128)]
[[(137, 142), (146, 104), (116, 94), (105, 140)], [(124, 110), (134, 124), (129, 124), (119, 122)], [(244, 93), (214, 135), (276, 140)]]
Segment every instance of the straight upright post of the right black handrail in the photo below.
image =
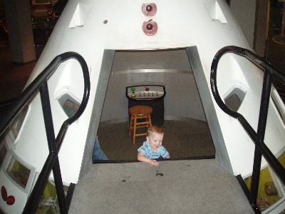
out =
[[(270, 93), (271, 93), (271, 74), (265, 69), (264, 82), (261, 94), (261, 105), (259, 109), (259, 123), (257, 128), (257, 138), (261, 142), (264, 142)], [(259, 148), (257, 148), (257, 146), (255, 146), (254, 165), (252, 169), (252, 185), (249, 197), (249, 203), (252, 205), (252, 207), (255, 207), (257, 204), (261, 157), (262, 157), (261, 151), (259, 150)]]

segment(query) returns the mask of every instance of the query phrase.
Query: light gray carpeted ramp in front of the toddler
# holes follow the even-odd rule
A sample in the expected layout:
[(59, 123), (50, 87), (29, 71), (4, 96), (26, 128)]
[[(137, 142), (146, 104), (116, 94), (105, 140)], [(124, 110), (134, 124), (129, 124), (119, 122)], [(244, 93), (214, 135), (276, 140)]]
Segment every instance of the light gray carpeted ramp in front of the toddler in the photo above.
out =
[[(163, 176), (156, 176), (156, 172)], [(214, 159), (97, 163), (76, 184), (69, 214), (254, 213), (237, 179)]]

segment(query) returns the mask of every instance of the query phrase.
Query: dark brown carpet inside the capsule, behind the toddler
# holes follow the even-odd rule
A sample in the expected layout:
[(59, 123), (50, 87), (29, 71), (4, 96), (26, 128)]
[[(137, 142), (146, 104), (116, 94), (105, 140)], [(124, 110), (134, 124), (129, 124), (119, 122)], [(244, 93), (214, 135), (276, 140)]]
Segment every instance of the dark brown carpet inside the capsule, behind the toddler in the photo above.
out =
[[(172, 160), (214, 158), (215, 149), (207, 123), (199, 120), (165, 121), (162, 145)], [(128, 136), (129, 123), (100, 124), (98, 140), (109, 161), (136, 161), (137, 150), (145, 136)]]

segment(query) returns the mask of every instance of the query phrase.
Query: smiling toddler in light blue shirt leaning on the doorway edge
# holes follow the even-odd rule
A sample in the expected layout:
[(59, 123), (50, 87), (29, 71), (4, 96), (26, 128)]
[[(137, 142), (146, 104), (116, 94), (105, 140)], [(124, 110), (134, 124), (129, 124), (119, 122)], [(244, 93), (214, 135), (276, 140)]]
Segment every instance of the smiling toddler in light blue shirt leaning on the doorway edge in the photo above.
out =
[(162, 146), (163, 130), (158, 126), (150, 126), (147, 129), (147, 141), (143, 142), (138, 148), (138, 161), (150, 163), (150, 165), (159, 166), (160, 163), (156, 160), (162, 158), (170, 158), (170, 153)]

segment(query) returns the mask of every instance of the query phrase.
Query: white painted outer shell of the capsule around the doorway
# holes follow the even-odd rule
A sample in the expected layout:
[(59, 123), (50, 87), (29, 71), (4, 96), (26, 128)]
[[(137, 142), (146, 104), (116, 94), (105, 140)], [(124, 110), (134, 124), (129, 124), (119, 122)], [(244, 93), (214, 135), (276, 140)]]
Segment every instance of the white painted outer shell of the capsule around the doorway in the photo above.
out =
[[(157, 14), (151, 18), (142, 14), (143, 3), (145, 1), (68, 1), (28, 81), (31, 83), (54, 57), (66, 51), (81, 54), (88, 63), (91, 81), (88, 106), (83, 116), (68, 128), (59, 153), (64, 183), (77, 183), (83, 167), (81, 164), (84, 148), (86, 142), (90, 143), (86, 136), (104, 49), (155, 50), (197, 46), (204, 69), (204, 78), (199, 81), (207, 83), (208, 88), (204, 88), (207, 91), (210, 90), (209, 73), (212, 59), (219, 49), (231, 45), (252, 50), (227, 4), (222, 0), (155, 0), (153, 3), (157, 4)], [(213, 15), (213, 10), (217, 14)], [(149, 19), (156, 21), (158, 25), (157, 34), (154, 36), (146, 36), (142, 31), (143, 22)], [(221, 19), (222, 22), (216, 19)], [(108, 20), (106, 24), (104, 24), (105, 20)], [(251, 63), (232, 54), (224, 56), (218, 67), (217, 81), (221, 96), (227, 94), (234, 86), (244, 88), (246, 96), (239, 112), (244, 114), (254, 128), (257, 128), (262, 76), (263, 73)], [(82, 84), (81, 68), (73, 60), (61, 64), (56, 74), (48, 80), (56, 134), (67, 118), (58, 104), (58, 96), (64, 91), (69, 91), (78, 98), (78, 101), (81, 101)], [(213, 98), (212, 101), (214, 101)], [(22, 139), (14, 151), (40, 171), (46, 160), (47, 143), (46, 135), (43, 133), (39, 96), (33, 99), (31, 106), (33, 111), (29, 116), (29, 123), (26, 124)], [(234, 175), (249, 175), (252, 172), (254, 153), (254, 144), (250, 138), (240, 124), (222, 112), (217, 104), (214, 103), (214, 109), (205, 109), (205, 111), (208, 111), (209, 115), (217, 113), (218, 121), (212, 121), (212, 123), (219, 124), (222, 128), (224, 142), (214, 143), (216, 148), (220, 148), (219, 144), (224, 144), (225, 151), (220, 152), (228, 154)], [(285, 131), (284, 124), (274, 120), (274, 117), (277, 117), (276, 111), (270, 106), (269, 118), (272, 119), (269, 119), (265, 142), (274, 153), (279, 153), (284, 150)], [(207, 120), (214, 120), (214, 118), (209, 117)], [(31, 133), (34, 136), (31, 137)], [(91, 154), (92, 151), (90, 156)], [(217, 160), (221, 165), (223, 165), (223, 158), (221, 155)], [(262, 163), (262, 166), (264, 164)], [(227, 170), (230, 169), (227, 168)]]

